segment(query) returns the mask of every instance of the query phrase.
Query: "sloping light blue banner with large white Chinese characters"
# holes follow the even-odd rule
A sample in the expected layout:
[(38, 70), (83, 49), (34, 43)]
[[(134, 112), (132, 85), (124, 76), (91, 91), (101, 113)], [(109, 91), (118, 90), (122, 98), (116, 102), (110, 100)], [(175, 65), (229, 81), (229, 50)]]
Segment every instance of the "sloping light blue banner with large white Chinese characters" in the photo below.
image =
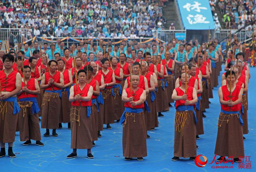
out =
[(214, 29), (209, 1), (177, 0), (183, 26), (190, 30)]

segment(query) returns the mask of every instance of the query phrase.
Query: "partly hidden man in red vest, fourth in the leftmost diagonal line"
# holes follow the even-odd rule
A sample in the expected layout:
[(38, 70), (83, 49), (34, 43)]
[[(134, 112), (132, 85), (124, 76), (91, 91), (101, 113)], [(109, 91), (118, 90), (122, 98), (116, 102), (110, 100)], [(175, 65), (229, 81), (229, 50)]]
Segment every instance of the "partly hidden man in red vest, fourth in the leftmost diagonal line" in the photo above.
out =
[(64, 88), (61, 90), (61, 107), (60, 107), (60, 118), (59, 118), (59, 128), (62, 128), (61, 123), (68, 123), (68, 129), (70, 126), (70, 107), (69, 102), (69, 87), (73, 84), (71, 71), (65, 69), (65, 61), (63, 59), (58, 60), (59, 71), (63, 74), (64, 78)]

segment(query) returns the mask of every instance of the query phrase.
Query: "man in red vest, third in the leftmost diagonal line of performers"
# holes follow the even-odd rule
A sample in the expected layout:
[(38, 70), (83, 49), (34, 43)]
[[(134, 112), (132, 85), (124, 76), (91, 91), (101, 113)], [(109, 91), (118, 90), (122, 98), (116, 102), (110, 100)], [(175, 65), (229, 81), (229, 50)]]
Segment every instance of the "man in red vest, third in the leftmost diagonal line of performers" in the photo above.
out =
[(50, 71), (43, 74), (40, 85), (40, 88), (44, 89), (41, 128), (46, 129), (44, 137), (50, 136), (49, 129), (52, 129), (52, 136), (57, 137), (56, 129), (59, 127), (60, 98), (61, 90), (64, 88), (64, 77), (60, 71), (57, 71), (55, 60), (50, 60), (48, 65)]

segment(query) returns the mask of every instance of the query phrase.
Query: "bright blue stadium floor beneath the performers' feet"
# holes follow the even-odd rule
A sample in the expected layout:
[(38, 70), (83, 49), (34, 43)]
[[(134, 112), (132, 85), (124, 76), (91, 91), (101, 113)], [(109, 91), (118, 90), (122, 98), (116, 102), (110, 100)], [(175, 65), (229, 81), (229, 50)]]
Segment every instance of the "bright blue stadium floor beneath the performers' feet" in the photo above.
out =
[[(251, 75), (256, 75), (256, 68), (250, 68)], [(219, 77), (220, 83), (220, 77)], [(251, 156), (252, 169), (238, 169), (238, 163), (220, 164), (220, 166), (233, 166), (232, 169), (225, 171), (254, 171), (256, 143), (254, 129), (256, 118), (254, 113), (256, 107), (252, 102), (256, 101), (256, 91), (254, 86), (256, 80), (251, 79), (249, 83), (249, 111), (248, 123), (250, 133), (245, 135), (247, 140), (244, 141), (245, 155)], [(67, 124), (64, 128), (58, 129), (58, 137), (42, 137), (43, 147), (36, 146), (32, 141), (32, 145), (23, 146), (20, 142), (19, 133), (17, 132), (16, 142), (13, 146), (13, 152), (16, 153), (16, 158), (5, 156), (0, 158), (1, 171), (177, 171), (179, 169), (189, 171), (213, 171), (209, 164), (214, 157), (215, 141), (217, 136), (217, 122), (220, 112), (220, 103), (218, 99), (218, 89), (213, 90), (214, 98), (210, 99), (210, 109), (207, 109), (204, 118), (204, 135), (197, 140), (197, 155), (203, 154), (208, 158), (208, 163), (205, 167), (199, 168), (194, 161), (180, 159), (172, 161), (173, 157), (173, 140), (174, 140), (174, 107), (170, 108), (170, 112), (164, 113), (164, 117), (159, 118), (159, 127), (155, 131), (150, 131), (148, 134), (151, 138), (147, 139), (148, 156), (143, 161), (131, 160), (124, 161), (122, 154), (122, 126), (119, 123), (112, 124), (111, 130), (104, 129), (101, 132), (102, 137), (96, 141), (96, 146), (92, 149), (94, 159), (86, 157), (86, 150), (78, 150), (78, 157), (67, 159), (66, 156), (71, 153), (70, 149), (70, 130), (67, 129)], [(255, 96), (255, 97), (254, 97)], [(106, 127), (106, 126), (104, 126)], [(41, 129), (41, 135), (45, 132)], [(50, 131), (51, 132), (51, 131)], [(253, 146), (254, 145), (254, 146)], [(6, 145), (6, 151), (7, 151)], [(253, 170), (254, 169), (254, 170)], [(219, 169), (217, 169), (219, 170)], [(256, 170), (255, 170), (256, 171)]]

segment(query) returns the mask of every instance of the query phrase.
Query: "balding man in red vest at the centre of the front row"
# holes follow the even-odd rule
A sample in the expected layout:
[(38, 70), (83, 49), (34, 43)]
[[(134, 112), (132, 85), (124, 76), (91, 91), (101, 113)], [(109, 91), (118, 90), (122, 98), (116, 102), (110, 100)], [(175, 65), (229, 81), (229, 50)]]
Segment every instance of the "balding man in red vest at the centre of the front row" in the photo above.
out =
[[(124, 160), (143, 160), (147, 156), (146, 123), (143, 112), (146, 91), (139, 87), (140, 77), (132, 74), (132, 88), (123, 90), (124, 113), (120, 119), (123, 124)], [(136, 129), (136, 133), (134, 133)]]

